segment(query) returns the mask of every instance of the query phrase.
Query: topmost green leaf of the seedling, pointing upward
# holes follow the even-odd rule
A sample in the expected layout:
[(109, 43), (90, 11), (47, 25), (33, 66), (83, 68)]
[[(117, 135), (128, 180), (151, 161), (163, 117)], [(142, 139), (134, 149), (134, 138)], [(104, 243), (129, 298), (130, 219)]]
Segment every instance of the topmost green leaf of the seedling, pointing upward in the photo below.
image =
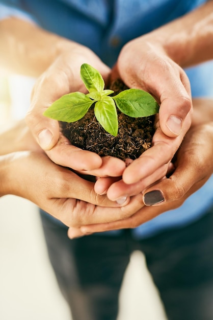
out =
[(81, 78), (89, 92), (102, 92), (104, 81), (101, 74), (91, 65), (84, 63), (81, 66)]

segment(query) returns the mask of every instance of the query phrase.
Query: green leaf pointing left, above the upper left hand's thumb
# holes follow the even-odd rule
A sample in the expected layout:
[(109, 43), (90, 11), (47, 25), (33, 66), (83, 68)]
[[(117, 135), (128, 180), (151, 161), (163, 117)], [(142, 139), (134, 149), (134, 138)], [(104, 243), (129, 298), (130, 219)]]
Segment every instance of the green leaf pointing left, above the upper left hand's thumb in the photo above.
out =
[(74, 122), (83, 118), (93, 103), (83, 93), (75, 92), (56, 100), (43, 115), (59, 121)]

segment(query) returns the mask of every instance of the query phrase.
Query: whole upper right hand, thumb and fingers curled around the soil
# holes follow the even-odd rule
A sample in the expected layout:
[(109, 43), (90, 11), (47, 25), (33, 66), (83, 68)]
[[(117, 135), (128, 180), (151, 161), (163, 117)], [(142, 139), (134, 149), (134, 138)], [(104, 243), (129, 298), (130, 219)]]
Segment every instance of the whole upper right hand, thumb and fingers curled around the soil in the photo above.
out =
[[(119, 76), (129, 87), (146, 90), (160, 104), (160, 129), (153, 136), (152, 148), (127, 167), (123, 174), (125, 184), (135, 184), (148, 176), (147, 182), (152, 184), (162, 178), (191, 124), (188, 77), (153, 34), (127, 43), (113, 71), (113, 77)], [(145, 180), (143, 186), (148, 187)]]

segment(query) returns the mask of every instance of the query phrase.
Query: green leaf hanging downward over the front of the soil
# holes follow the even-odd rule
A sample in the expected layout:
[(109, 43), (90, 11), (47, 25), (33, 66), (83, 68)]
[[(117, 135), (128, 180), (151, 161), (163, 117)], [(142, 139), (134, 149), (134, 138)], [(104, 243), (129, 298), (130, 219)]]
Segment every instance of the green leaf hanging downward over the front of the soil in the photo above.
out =
[(113, 99), (111, 97), (103, 97), (96, 102), (94, 112), (103, 129), (116, 136), (118, 134), (118, 115)]

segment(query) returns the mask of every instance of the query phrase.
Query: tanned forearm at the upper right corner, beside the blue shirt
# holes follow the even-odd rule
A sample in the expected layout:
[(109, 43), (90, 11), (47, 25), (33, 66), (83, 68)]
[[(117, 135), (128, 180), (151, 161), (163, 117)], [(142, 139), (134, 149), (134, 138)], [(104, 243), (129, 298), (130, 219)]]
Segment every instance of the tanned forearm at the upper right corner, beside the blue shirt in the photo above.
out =
[[(213, 58), (213, 1), (147, 34), (181, 67)], [(152, 41), (150, 42), (150, 45)], [(161, 49), (160, 49), (161, 48)]]

